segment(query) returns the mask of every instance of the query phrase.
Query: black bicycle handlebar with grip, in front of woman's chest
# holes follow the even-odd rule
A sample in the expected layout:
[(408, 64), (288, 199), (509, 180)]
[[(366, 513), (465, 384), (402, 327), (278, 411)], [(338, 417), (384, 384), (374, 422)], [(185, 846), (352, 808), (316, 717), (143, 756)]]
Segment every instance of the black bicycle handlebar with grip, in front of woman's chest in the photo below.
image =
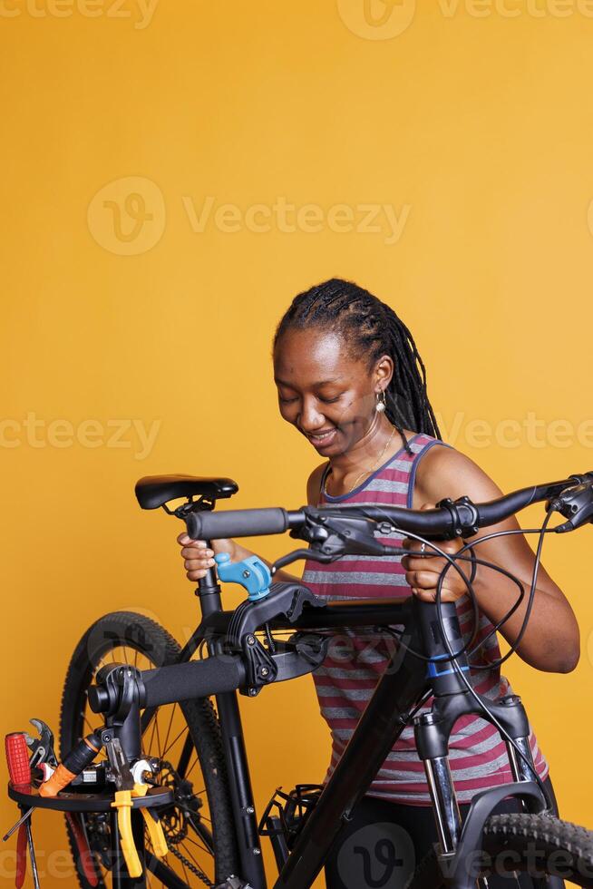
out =
[(314, 542), (319, 537), (312, 526), (323, 528), (331, 518), (370, 519), (387, 523), (403, 532), (422, 534), (427, 539), (451, 540), (471, 537), (480, 528), (497, 524), (520, 512), (532, 503), (548, 501), (548, 509), (564, 515), (569, 521), (559, 525), (556, 532), (571, 531), (578, 524), (593, 520), (593, 472), (570, 475), (559, 482), (531, 485), (519, 491), (488, 501), (472, 503), (469, 497), (437, 503), (432, 510), (411, 510), (403, 506), (303, 506), (289, 511), (281, 507), (269, 509), (227, 510), (224, 513), (197, 511), (185, 516), (188, 534), (193, 540), (219, 540), (227, 537), (258, 537), (281, 534), (290, 530), (291, 536)]

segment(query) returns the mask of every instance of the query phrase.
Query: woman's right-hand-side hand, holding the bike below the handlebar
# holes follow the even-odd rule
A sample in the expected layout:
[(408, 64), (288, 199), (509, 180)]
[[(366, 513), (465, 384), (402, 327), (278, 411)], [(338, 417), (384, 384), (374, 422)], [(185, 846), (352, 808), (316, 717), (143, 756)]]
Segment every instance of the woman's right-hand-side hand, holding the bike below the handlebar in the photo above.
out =
[[(421, 508), (434, 509), (435, 504), (424, 503)], [(435, 541), (434, 543), (439, 549), (451, 554), (459, 552), (464, 545), (460, 539)], [(410, 555), (403, 556), (402, 564), (405, 568), (405, 580), (412, 587), (413, 594), (425, 602), (435, 601), (439, 577), (442, 569), (448, 564), (447, 560), (436, 553), (434, 555), (416, 555), (415, 553), (421, 551), (423, 544), (409, 537), (404, 539), (402, 545), (410, 552)], [(424, 552), (431, 552), (429, 543), (426, 544)], [(466, 567), (468, 562), (457, 562), (457, 564), (464, 573), (469, 574), (469, 569)], [(465, 592), (467, 592), (467, 586), (459, 572), (451, 566), (442, 582), (441, 600), (452, 602), (461, 599)]]

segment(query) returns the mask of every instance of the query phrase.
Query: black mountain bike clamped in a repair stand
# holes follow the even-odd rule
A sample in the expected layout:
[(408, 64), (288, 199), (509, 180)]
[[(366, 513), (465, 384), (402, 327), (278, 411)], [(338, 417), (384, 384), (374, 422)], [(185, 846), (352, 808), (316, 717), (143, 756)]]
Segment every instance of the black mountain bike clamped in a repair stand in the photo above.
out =
[[(473, 640), (463, 643), (455, 605), (441, 601), (441, 585), (434, 603), (416, 597), (326, 603), (298, 581), (272, 582), (277, 570), (297, 559), (332, 562), (351, 553), (375, 558), (403, 554), (401, 547), (377, 540), (379, 534), (399, 532), (425, 542), (429, 552), (442, 554), (447, 560), (445, 572), (461, 572), (457, 562), (467, 560), (471, 574), (466, 584), (472, 597), (480, 541), (465, 544), (454, 556), (442, 552), (436, 541), (473, 537), (532, 503), (546, 503), (541, 527), (526, 531), (540, 534), (532, 598), (545, 534), (573, 531), (593, 521), (593, 473), (523, 488), (490, 503), (472, 503), (468, 497), (444, 500), (422, 512), (354, 505), (306, 506), (293, 512), (282, 508), (213, 512), (219, 500), (237, 490), (230, 479), (193, 476), (147, 477), (136, 485), (143, 509), (162, 507), (186, 524), (193, 539), (209, 542), (289, 531), (308, 547), (281, 557), (271, 571), (257, 556), (235, 564), (226, 555), (217, 556), (216, 567), (199, 581), (201, 621), (182, 650), (166, 630), (132, 612), (106, 615), (83, 635), (63, 691), (62, 753), (83, 738), (85, 728), (96, 731), (92, 720), (102, 718), (119, 738), (126, 759), (133, 764), (152, 757), (158, 784), (170, 790), (170, 802), (160, 810), (170, 855), (165, 859), (154, 855), (136, 825), (137, 845), (145, 846), (141, 848), (144, 874), (137, 880), (126, 872), (112, 816), (80, 815), (87, 845), (80, 835), (73, 835), (69, 821), (83, 889), (106, 886), (110, 879), (113, 885), (145, 886), (152, 877), (174, 889), (199, 885), (266, 889), (260, 835), (269, 836), (273, 845), (279, 872), (275, 889), (305, 889), (323, 867), (344, 818), (411, 722), (432, 798), (438, 843), (412, 875), (410, 889), (485, 887), (487, 874), (495, 864), (503, 866), (503, 859), (505, 873), (528, 873), (540, 887), (556, 889), (561, 879), (593, 886), (593, 834), (552, 815), (546, 788), (535, 772), (529, 723), (519, 696), (492, 701), (472, 689), (466, 673)], [(184, 503), (170, 507), (181, 498)], [(549, 527), (556, 513), (565, 521)], [(234, 611), (223, 611), (219, 580), (240, 583), (248, 599)], [(520, 599), (495, 630), (525, 595), (519, 586)], [(477, 616), (473, 597), (472, 601)], [(528, 607), (526, 620), (529, 611)], [(258, 823), (237, 692), (255, 697), (270, 683), (313, 672), (326, 657), (332, 630), (369, 625), (392, 633), (394, 627), (402, 627), (400, 647), (394, 650), (343, 757), (325, 786), (297, 786), (289, 794), (277, 791)], [(290, 636), (281, 640), (283, 632)], [(509, 655), (518, 644), (519, 640)], [(208, 657), (191, 660), (204, 650)], [(216, 699), (216, 709), (211, 698)], [(414, 717), (430, 698), (432, 713)], [(479, 713), (499, 729), (513, 781), (477, 794), (462, 823), (447, 739), (455, 719), (465, 713)], [(201, 779), (196, 780), (197, 763), (203, 786)], [(86, 780), (91, 781), (83, 783), (87, 790), (93, 781), (109, 785), (109, 765), (100, 762), (94, 777)], [(77, 782), (80, 785), (81, 778), (73, 782), (74, 791)], [(491, 816), (504, 796), (516, 797), (520, 812)], [(96, 882), (89, 881), (88, 866), (83, 866), (86, 853)]]

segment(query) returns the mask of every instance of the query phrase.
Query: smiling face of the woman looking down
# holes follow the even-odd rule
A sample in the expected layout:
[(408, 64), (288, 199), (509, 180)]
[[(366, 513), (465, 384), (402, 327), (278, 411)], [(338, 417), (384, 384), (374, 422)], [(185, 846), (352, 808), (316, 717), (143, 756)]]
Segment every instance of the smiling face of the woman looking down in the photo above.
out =
[(369, 370), (342, 337), (323, 328), (289, 330), (277, 342), (274, 379), (280, 414), (319, 454), (345, 454), (368, 431), (375, 393), (393, 373), (389, 357)]

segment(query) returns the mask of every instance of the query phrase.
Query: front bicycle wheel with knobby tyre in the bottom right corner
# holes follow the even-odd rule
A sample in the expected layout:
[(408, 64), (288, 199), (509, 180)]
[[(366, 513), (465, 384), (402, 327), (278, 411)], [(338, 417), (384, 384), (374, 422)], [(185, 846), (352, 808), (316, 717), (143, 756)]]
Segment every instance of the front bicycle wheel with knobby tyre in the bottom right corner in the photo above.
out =
[[(492, 815), (484, 825), (482, 851), (476, 854), (471, 874), (490, 877), (489, 885), (493, 879), (499, 885), (504, 877), (503, 884), (509, 889), (557, 889), (562, 880), (593, 887), (593, 833), (546, 814)], [(406, 889), (445, 886), (437, 857), (431, 852), (417, 867)]]

